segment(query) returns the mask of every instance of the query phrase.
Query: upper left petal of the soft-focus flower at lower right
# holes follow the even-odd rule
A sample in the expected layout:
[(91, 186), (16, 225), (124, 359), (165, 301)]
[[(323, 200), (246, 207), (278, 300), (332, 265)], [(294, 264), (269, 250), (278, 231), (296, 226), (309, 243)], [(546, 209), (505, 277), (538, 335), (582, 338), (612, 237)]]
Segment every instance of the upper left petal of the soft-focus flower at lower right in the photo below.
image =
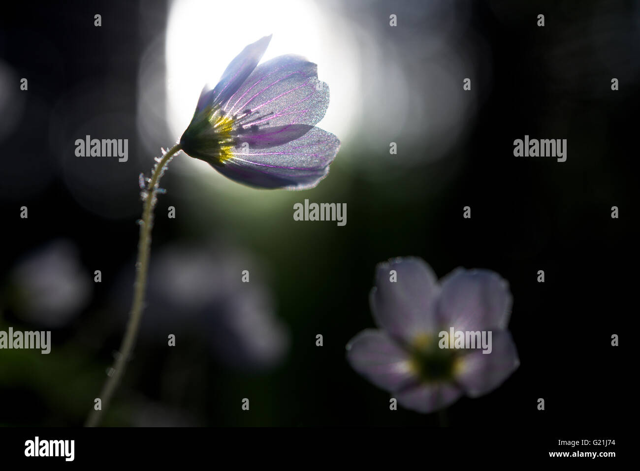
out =
[(380, 263), (369, 296), (373, 317), (392, 337), (412, 344), (416, 337), (436, 332), (438, 292), (436, 276), (424, 260), (400, 257)]

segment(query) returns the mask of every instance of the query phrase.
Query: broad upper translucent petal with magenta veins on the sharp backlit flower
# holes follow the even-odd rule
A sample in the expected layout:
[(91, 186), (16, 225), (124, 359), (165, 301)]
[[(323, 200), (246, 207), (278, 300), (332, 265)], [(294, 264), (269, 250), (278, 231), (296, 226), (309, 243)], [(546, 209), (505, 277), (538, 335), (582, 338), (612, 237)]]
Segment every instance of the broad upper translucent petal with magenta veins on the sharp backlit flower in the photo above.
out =
[(250, 124), (315, 125), (329, 106), (329, 87), (317, 79), (317, 65), (294, 55), (260, 64), (224, 104), (225, 113), (251, 110)]

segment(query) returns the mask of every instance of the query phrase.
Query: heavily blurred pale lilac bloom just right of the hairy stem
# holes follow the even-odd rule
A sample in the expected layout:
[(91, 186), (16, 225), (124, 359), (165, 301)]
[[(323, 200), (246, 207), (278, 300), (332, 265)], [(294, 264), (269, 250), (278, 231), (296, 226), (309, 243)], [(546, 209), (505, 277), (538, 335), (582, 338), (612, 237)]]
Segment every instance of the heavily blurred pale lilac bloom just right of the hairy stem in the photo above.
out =
[[(248, 283), (242, 281), (243, 270), (248, 270)], [(121, 292), (129, 297), (132, 277), (132, 267), (127, 268)], [(289, 332), (263, 283), (255, 261), (219, 244), (161, 248), (150, 264), (140, 335), (164, 342), (173, 333), (179, 342), (181, 334), (188, 334), (204, 340), (231, 367), (271, 368), (287, 352)], [(124, 321), (129, 299), (121, 301)]]

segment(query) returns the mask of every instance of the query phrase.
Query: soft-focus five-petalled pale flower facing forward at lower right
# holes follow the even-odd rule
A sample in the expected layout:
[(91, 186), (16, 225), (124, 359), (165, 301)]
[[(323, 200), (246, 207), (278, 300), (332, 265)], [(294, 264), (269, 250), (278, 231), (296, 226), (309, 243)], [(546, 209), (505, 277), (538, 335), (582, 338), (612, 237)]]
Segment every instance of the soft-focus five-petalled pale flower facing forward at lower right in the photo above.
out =
[[(438, 283), (424, 260), (392, 259), (378, 264), (370, 301), (380, 330), (351, 339), (348, 362), (407, 409), (427, 413), (487, 394), (520, 365), (507, 330), (509, 285), (493, 271), (458, 268)], [(451, 328), (491, 331), (491, 353), (443, 349), (438, 333)]]

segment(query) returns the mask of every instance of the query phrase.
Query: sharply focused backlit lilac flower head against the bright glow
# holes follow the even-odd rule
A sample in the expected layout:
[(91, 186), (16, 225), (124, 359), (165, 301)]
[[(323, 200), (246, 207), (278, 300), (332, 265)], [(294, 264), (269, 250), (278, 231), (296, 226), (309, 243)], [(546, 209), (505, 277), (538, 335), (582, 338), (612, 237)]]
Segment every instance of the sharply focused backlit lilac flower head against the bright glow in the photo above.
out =
[(340, 147), (315, 126), (329, 106), (329, 88), (317, 79), (317, 65), (300, 56), (257, 65), (270, 40), (245, 47), (214, 88), (204, 87), (180, 147), (249, 186), (312, 188)]

